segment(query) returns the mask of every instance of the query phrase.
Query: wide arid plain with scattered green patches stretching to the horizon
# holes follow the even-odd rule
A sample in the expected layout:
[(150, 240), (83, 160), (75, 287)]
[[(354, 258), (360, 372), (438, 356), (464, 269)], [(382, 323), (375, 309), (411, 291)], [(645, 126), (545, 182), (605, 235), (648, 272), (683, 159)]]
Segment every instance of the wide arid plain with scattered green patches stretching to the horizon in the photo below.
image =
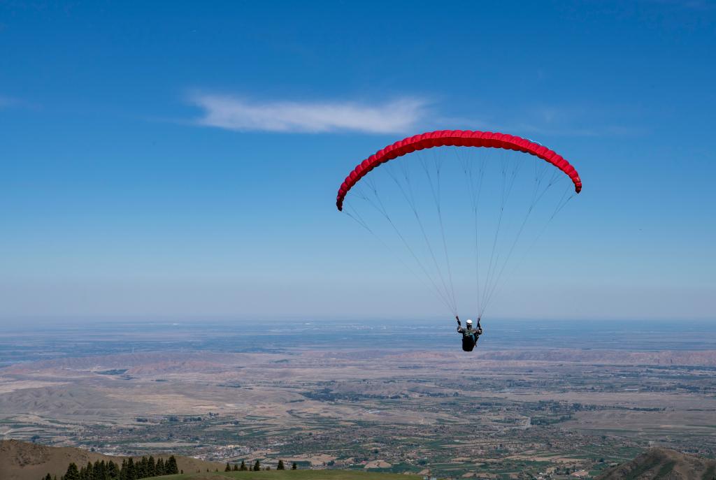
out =
[(594, 474), (652, 445), (716, 454), (706, 324), (662, 349), (659, 327), (513, 321), (470, 354), (440, 326), (17, 328), (0, 343), (0, 437), (440, 476)]

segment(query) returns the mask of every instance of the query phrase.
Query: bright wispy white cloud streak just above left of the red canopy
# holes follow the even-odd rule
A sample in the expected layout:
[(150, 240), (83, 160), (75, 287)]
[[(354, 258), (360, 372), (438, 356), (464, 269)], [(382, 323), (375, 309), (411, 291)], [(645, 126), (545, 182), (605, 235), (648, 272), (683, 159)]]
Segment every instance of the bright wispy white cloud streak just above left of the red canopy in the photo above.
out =
[(251, 102), (218, 94), (195, 94), (203, 109), (197, 123), (239, 132), (410, 132), (425, 118), (424, 99), (402, 98), (383, 104), (356, 102)]

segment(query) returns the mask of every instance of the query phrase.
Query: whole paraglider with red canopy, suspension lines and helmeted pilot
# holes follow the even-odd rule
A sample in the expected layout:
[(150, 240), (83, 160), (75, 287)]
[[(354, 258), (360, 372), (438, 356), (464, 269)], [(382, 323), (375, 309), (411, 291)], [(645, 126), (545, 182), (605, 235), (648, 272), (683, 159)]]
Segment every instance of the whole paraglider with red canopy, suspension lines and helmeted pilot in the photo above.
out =
[[(574, 166), (537, 142), (439, 130), (402, 139), (360, 162), (340, 185), (336, 207), (425, 281), (457, 318), (463, 350), (472, 351), (485, 309), (513, 273), (508, 265), (527, 257), (544, 230), (536, 226), (546, 227), (581, 189)], [(525, 242), (531, 227), (536, 235)], [(526, 251), (514, 261), (521, 247)], [(470, 320), (462, 327), (458, 301), (469, 304), (477, 328)]]

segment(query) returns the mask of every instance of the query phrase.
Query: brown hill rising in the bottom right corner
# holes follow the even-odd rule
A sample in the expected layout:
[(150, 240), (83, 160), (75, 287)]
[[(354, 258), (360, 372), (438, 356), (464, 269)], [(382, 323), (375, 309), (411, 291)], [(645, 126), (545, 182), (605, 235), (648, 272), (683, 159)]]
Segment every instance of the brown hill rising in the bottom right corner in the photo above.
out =
[(615, 466), (597, 480), (713, 480), (716, 460), (667, 449), (649, 449), (636, 459)]

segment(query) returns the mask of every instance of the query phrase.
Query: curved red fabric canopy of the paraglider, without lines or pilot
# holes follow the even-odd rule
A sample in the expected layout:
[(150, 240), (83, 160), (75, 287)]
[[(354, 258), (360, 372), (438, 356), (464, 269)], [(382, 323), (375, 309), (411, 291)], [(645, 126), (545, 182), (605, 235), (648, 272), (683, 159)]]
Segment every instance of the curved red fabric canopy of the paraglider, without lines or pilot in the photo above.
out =
[(574, 170), (574, 167), (564, 160), (561, 155), (557, 155), (556, 152), (549, 150), (543, 145), (504, 133), (479, 132), (473, 130), (437, 130), (436, 132), (427, 132), (402, 139), (400, 142), (395, 142), (393, 145), (379, 150), (374, 155), (371, 155), (359, 163), (346, 177), (346, 180), (344, 180), (338, 190), (338, 197), (336, 199), (338, 210), (343, 210), (343, 200), (348, 191), (351, 190), (358, 180), (378, 165), (388, 160), (402, 157), (402, 155), (415, 152), (416, 150), (445, 146), (503, 148), (505, 150), (516, 150), (518, 152), (535, 155), (551, 163), (568, 175), (572, 182), (574, 182), (574, 191), (577, 193), (581, 192), (581, 180), (577, 171)]

